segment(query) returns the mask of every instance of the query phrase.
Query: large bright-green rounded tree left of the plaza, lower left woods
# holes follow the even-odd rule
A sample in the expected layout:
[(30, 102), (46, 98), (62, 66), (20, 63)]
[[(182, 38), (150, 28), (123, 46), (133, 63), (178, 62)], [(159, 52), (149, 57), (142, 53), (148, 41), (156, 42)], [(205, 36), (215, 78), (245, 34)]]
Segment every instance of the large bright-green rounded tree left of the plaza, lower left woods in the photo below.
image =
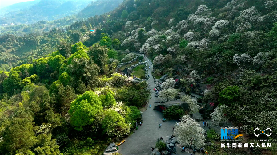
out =
[(68, 113), (71, 115), (70, 122), (76, 130), (82, 130), (83, 126), (94, 122), (95, 115), (102, 111), (102, 102), (97, 94), (92, 91), (86, 91), (71, 103)]

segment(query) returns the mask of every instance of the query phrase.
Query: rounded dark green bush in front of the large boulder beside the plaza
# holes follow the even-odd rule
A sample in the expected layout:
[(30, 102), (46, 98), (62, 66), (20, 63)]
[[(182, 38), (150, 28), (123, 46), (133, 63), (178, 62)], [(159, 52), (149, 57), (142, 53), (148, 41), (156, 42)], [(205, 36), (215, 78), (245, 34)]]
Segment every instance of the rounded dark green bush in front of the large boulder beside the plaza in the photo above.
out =
[(166, 110), (163, 111), (163, 117), (172, 120), (179, 119), (185, 114), (185, 111), (182, 107), (179, 106), (170, 106)]

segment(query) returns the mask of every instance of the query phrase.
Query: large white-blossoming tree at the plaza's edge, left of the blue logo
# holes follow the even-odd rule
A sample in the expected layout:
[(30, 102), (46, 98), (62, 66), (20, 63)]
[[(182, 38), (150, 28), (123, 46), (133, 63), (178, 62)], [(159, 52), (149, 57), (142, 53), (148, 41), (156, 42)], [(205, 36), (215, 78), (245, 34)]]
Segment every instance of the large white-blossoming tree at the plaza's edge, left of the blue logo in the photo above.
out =
[[(198, 122), (190, 118), (189, 115), (184, 115), (179, 124), (174, 125), (174, 134), (181, 145), (195, 145), (200, 148), (205, 145), (205, 137), (201, 134), (205, 130), (200, 127)], [(192, 138), (192, 141), (191, 141)]]

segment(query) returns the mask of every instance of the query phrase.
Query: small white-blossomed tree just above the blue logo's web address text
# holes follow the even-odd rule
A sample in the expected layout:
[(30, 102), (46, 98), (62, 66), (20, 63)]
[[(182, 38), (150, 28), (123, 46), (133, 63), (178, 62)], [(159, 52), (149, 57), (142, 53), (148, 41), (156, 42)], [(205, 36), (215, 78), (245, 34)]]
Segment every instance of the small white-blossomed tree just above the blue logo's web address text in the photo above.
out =
[(223, 112), (225, 108), (227, 108), (226, 105), (218, 106), (215, 108), (215, 111), (211, 113), (210, 116), (215, 124), (228, 122), (227, 116), (225, 116)]

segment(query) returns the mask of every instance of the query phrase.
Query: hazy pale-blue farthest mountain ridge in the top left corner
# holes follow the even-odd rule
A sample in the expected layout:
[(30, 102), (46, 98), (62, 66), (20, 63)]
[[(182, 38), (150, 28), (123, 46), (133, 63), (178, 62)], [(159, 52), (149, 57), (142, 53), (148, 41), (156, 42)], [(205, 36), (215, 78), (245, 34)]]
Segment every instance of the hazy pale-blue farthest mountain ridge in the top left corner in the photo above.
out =
[(1, 12), (0, 24), (32, 24), (40, 20), (52, 21), (76, 14), (90, 2), (90, 0), (40, 0), (17, 3), (5, 7), (4, 11), (7, 11), (17, 6), (6, 14), (4, 11)]

